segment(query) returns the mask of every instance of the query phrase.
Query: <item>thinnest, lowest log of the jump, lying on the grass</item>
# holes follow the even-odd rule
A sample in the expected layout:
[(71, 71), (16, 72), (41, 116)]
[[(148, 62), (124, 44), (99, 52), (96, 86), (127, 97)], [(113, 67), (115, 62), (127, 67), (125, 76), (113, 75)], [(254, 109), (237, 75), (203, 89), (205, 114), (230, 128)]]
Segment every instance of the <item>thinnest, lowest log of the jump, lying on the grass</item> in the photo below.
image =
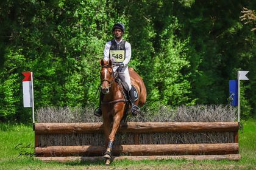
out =
[[(37, 157), (42, 161), (104, 161), (103, 157)], [(154, 156), (119, 156), (113, 157), (113, 160), (170, 160), (170, 159), (185, 159), (185, 160), (240, 160), (240, 154), (230, 155), (154, 155)]]

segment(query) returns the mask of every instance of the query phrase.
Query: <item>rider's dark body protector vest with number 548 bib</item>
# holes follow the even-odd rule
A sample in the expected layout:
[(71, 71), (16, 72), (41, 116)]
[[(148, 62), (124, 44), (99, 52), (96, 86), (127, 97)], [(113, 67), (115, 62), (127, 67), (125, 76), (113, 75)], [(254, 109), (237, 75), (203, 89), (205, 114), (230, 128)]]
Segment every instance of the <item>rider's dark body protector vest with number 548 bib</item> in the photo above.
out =
[(110, 51), (109, 51), (109, 58), (112, 60), (113, 63), (121, 63), (124, 61), (126, 57), (126, 41), (123, 41), (119, 44), (116, 43), (115, 39), (112, 39)]

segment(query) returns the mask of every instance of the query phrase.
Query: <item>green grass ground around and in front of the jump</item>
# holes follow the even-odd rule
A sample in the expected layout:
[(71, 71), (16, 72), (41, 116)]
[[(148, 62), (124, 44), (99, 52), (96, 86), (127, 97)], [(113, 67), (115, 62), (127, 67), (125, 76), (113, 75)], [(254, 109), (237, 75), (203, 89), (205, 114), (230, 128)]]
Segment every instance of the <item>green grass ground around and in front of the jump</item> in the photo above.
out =
[[(256, 120), (244, 121), (240, 132), (240, 161), (113, 161), (104, 162), (45, 163), (35, 160), (34, 131), (24, 124), (0, 124), (0, 168), (1, 169), (256, 169)], [(21, 148), (23, 147), (23, 148)], [(20, 155), (21, 154), (21, 155)], [(25, 154), (25, 155), (24, 155)]]

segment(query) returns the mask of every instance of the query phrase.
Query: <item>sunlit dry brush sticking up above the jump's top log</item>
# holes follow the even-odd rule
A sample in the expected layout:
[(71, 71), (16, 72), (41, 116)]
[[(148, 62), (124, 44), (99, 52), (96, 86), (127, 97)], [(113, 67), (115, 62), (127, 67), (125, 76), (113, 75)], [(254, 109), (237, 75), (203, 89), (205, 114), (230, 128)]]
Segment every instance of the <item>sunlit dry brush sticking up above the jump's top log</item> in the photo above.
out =
[[(41, 107), (36, 111), (38, 123), (78, 123), (102, 122), (102, 117), (93, 115), (92, 107)], [(180, 106), (177, 109), (160, 106), (158, 108), (144, 107), (137, 117), (128, 117), (127, 121), (154, 122), (188, 122), (188, 121), (235, 121), (236, 108), (222, 105)]]

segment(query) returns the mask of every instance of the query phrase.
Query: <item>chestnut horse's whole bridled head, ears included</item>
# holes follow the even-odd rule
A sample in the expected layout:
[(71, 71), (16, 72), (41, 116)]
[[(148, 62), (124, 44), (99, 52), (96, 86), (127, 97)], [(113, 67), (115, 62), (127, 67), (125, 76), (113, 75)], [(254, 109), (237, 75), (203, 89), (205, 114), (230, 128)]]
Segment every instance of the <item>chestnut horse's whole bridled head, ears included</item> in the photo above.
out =
[(101, 89), (103, 94), (108, 94), (110, 92), (110, 87), (115, 81), (114, 72), (112, 68), (112, 61), (101, 60)]

